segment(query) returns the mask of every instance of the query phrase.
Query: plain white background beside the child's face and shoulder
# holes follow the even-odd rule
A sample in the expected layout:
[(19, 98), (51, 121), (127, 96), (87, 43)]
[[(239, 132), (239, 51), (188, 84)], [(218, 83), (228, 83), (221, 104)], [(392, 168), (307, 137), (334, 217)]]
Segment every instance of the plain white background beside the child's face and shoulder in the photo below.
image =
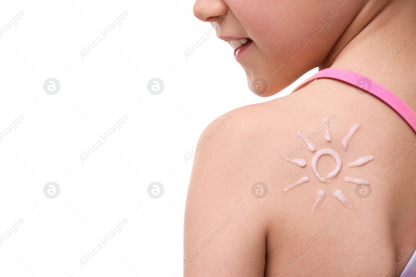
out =
[[(0, 28), (24, 15), (0, 37), (0, 132), (24, 119), (0, 142), (0, 236), (24, 223), (0, 245), (1, 276), (183, 275), (192, 167), (183, 156), (218, 116), (271, 99), (249, 91), (233, 49), (206, 37), (210, 25), (192, 7), (190, 0), (2, 1)], [(82, 59), (97, 36), (103, 41)], [(207, 41), (186, 59), (202, 36)], [(159, 95), (147, 90), (155, 77), (165, 85)], [(47, 78), (60, 83), (55, 95), (43, 90)], [(124, 114), (121, 129), (82, 163)], [(61, 189), (55, 199), (43, 193), (50, 181)], [(147, 194), (153, 181), (164, 186), (159, 199)], [(123, 218), (121, 233), (82, 266)]]

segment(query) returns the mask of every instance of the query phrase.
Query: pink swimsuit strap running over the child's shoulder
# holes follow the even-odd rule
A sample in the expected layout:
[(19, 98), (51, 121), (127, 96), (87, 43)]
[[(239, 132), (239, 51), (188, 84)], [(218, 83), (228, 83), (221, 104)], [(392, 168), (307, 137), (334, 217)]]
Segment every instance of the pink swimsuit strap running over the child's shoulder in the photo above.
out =
[(307, 78), (299, 86), (297, 86), (292, 92), (297, 91), (308, 83), (318, 79), (318, 78), (331, 78), (337, 79), (339, 81), (344, 81), (353, 86), (357, 86), (362, 91), (367, 91), (372, 95), (380, 98), (384, 103), (393, 108), (401, 117), (406, 120), (407, 123), (413, 128), (416, 132), (416, 113), (403, 102), (399, 97), (394, 93), (389, 91), (384, 86), (366, 78), (360, 74), (357, 74), (352, 71), (339, 68), (327, 68), (318, 71), (314, 76)]

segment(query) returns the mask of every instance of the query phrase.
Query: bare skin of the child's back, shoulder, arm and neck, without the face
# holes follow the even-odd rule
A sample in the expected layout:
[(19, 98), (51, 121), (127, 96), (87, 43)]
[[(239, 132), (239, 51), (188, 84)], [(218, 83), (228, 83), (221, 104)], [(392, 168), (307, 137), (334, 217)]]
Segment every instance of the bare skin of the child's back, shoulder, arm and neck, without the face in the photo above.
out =
[[(416, 4), (387, 4), (367, 2), (379, 12), (368, 13), (372, 20), (363, 14), (355, 17), (359, 22), (334, 44), (336, 59), (325, 56), (321, 67), (329, 63), (371, 78), (416, 110), (416, 44), (396, 59), (391, 54), (401, 42), (416, 37)], [(331, 115), (336, 119), (330, 123), (332, 141), (327, 142), (319, 128)], [(225, 129), (208, 141), (206, 136), (226, 118)], [(361, 126), (344, 151), (342, 138), (355, 123)], [(318, 131), (316, 149), (332, 148), (341, 155), (342, 170), (334, 182), (321, 183), (314, 176), (314, 153), (302, 150), (297, 130), (305, 135)], [(403, 271), (416, 247), (416, 145), (406, 152), (401, 147), (416, 143), (416, 135), (378, 98), (319, 79), (289, 96), (225, 113), (208, 125), (198, 144), (202, 140), (206, 145), (195, 156), (186, 203), (184, 276), (396, 277)], [(292, 151), (306, 160), (305, 167), (280, 157), (293, 156)], [(365, 155), (374, 155), (374, 160), (347, 167)], [(330, 156), (319, 159), (322, 176), (334, 167)], [(356, 184), (344, 181), (347, 175), (369, 181), (371, 196), (360, 198)], [(302, 176), (310, 181), (283, 191)], [(252, 194), (259, 181), (268, 188), (261, 199)], [(312, 214), (320, 189), (327, 196)], [(352, 201), (355, 211), (333, 196), (336, 189)], [(319, 238), (311, 243), (315, 235)]]

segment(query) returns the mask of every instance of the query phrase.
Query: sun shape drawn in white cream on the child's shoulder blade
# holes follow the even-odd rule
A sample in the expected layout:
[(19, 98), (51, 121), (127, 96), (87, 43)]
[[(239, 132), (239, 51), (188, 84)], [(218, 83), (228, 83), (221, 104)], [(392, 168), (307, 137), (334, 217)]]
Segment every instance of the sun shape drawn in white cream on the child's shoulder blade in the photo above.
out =
[[(324, 138), (325, 138), (325, 140), (327, 142), (330, 142), (331, 139), (332, 139), (332, 137), (331, 137), (331, 133), (329, 132), (328, 118), (324, 118), (324, 123), (325, 123), (326, 129), (327, 129)], [(347, 151), (348, 142), (349, 142), (349, 140), (351, 140), (351, 138), (354, 135), (355, 131), (357, 131), (357, 129), (359, 127), (360, 127), (359, 123), (354, 124), (351, 127), (351, 130), (349, 130), (348, 135), (342, 139), (342, 147), (344, 148), (344, 151)], [(314, 143), (311, 142), (310, 140), (308, 140), (307, 137), (305, 137), (300, 132), (300, 130), (297, 131), (297, 135), (305, 142), (305, 144), (306, 144), (306, 146), (307, 146), (307, 148), (308, 148), (308, 150), (310, 152), (314, 152), (315, 151), (316, 147), (315, 147)], [(335, 159), (335, 162), (336, 162), (335, 169), (332, 172), (330, 172), (325, 177), (322, 177), (319, 174), (318, 169), (317, 169), (318, 159), (322, 155), (330, 155), (330, 156), (332, 156)], [(292, 162), (294, 164), (297, 164), (300, 167), (303, 167), (303, 166), (306, 165), (305, 159), (301, 159), (301, 158), (292, 159), (292, 158), (286, 158), (286, 157), (283, 157), (283, 156), (282, 156), (282, 158), (285, 159), (285, 160), (287, 160), (287, 161), (289, 161), (289, 162)], [(364, 157), (360, 157), (359, 159), (355, 160), (354, 162), (350, 162), (348, 164), (348, 167), (357, 167), (357, 166), (360, 166), (362, 164), (365, 164), (366, 162), (371, 161), (372, 159), (374, 159), (374, 156), (371, 156), (371, 155), (364, 156)], [(335, 150), (333, 150), (331, 148), (323, 148), (323, 149), (318, 150), (317, 152), (315, 152), (314, 156), (312, 157), (311, 167), (312, 167), (312, 172), (315, 174), (315, 176), (317, 177), (317, 179), (320, 182), (322, 182), (322, 183), (331, 183), (331, 182), (335, 181), (335, 179), (337, 179), (337, 176), (338, 176), (339, 172), (342, 169), (342, 159), (341, 159), (341, 156)], [(366, 181), (364, 179), (361, 179), (361, 178), (353, 178), (353, 177), (350, 177), (350, 176), (346, 176), (344, 178), (344, 180), (346, 182), (349, 182), (349, 183), (355, 183), (355, 184), (360, 184), (360, 185), (368, 185), (368, 184), (370, 184), (368, 181)], [(288, 186), (283, 191), (288, 191), (290, 189), (293, 189), (295, 186), (299, 186), (301, 184), (304, 184), (307, 181), (309, 181), (309, 177), (308, 176), (303, 176), (299, 181), (297, 181), (294, 184)], [(316, 211), (316, 209), (324, 201), (325, 196), (326, 196), (325, 191), (322, 190), (322, 189), (319, 190), (317, 194), (318, 194), (318, 199), (317, 199), (317, 201), (315, 202), (315, 205), (312, 208), (312, 213)], [(352, 202), (349, 201), (347, 199), (347, 197), (345, 197), (345, 195), (342, 193), (342, 191), (340, 189), (337, 189), (334, 192), (334, 196), (345, 207), (351, 208), (353, 210), (355, 209), (354, 206), (352, 206)]]

